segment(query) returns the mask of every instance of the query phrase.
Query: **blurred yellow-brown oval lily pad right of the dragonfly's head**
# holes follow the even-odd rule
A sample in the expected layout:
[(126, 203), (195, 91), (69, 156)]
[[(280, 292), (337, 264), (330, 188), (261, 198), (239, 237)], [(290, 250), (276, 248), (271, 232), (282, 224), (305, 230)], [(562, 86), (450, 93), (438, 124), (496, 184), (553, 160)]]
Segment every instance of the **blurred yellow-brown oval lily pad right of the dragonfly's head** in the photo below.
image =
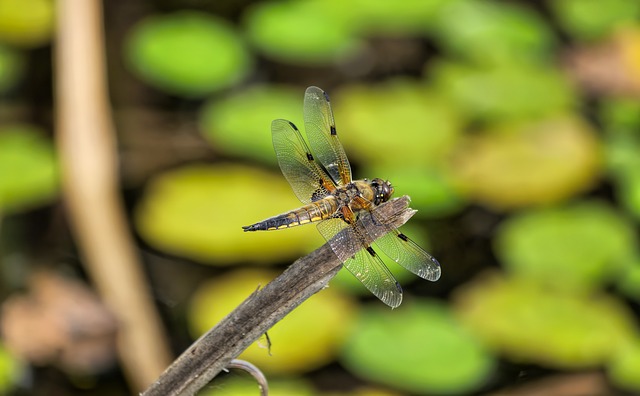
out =
[(558, 202), (596, 183), (602, 158), (582, 120), (559, 117), (469, 136), (452, 169), (470, 198), (495, 209)]

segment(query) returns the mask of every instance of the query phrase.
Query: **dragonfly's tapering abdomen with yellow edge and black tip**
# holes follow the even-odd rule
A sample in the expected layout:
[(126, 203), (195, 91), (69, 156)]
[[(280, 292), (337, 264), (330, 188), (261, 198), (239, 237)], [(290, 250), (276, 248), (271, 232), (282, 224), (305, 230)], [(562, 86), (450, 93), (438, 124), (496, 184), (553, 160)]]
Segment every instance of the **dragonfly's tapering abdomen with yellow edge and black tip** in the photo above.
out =
[(338, 204), (334, 196), (312, 202), (301, 208), (269, 217), (250, 226), (242, 227), (245, 231), (270, 231), (282, 228), (295, 227), (328, 219), (338, 210)]

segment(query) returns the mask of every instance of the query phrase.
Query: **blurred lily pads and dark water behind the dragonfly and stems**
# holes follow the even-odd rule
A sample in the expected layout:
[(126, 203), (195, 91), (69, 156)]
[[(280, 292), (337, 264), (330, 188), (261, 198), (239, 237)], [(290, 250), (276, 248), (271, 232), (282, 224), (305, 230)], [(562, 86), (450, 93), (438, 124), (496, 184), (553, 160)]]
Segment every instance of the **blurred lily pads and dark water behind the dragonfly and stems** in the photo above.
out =
[[(0, 0), (0, 393), (129, 394), (65, 211), (55, 15)], [(640, 2), (117, 0), (104, 30), (119, 191), (174, 353), (323, 243), (240, 228), (299, 205), (270, 122), (302, 126), (316, 85), (443, 275), (389, 263), (392, 311), (341, 271), (242, 355), (272, 394), (640, 393)]]

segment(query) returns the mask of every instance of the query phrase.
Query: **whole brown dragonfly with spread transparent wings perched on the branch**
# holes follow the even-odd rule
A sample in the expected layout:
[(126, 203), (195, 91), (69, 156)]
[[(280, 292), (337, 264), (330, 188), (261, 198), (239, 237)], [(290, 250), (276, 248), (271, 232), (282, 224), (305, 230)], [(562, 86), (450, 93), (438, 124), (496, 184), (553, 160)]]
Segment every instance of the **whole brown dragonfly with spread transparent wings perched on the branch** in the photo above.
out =
[(280, 169), (304, 206), (242, 228), (270, 231), (316, 223), (344, 267), (382, 302), (396, 308), (402, 302), (402, 287), (378, 251), (430, 281), (440, 278), (440, 263), (378, 210), (394, 192), (389, 181), (352, 179), (327, 93), (307, 88), (303, 111), (308, 144), (300, 130), (284, 119), (274, 120), (271, 132)]

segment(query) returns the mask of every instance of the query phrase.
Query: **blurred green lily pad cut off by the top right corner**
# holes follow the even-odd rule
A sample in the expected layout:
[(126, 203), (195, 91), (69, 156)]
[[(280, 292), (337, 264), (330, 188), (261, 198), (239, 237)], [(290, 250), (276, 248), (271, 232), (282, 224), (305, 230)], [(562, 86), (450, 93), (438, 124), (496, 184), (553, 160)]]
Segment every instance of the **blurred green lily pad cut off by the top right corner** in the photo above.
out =
[(637, 23), (640, 2), (628, 0), (554, 0), (551, 10), (564, 29), (582, 40), (597, 40), (625, 24)]

